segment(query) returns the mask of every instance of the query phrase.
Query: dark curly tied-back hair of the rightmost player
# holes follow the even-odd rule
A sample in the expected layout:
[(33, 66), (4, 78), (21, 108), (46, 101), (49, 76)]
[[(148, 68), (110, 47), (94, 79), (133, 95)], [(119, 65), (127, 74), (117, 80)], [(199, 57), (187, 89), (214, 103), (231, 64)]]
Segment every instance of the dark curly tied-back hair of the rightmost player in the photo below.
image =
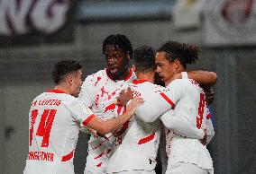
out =
[(187, 64), (194, 64), (198, 59), (198, 53), (201, 49), (194, 45), (168, 41), (161, 45), (158, 52), (166, 52), (169, 62), (178, 59), (181, 64), (187, 68)]

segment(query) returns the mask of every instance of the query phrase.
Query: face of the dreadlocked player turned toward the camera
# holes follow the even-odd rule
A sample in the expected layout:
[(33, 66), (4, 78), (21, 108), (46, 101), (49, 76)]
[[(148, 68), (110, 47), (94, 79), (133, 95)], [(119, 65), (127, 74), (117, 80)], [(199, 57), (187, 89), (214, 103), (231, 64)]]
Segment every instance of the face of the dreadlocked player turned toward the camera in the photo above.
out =
[(129, 68), (129, 57), (124, 54), (122, 48), (114, 48), (114, 45), (106, 46), (105, 60), (114, 78), (119, 78)]

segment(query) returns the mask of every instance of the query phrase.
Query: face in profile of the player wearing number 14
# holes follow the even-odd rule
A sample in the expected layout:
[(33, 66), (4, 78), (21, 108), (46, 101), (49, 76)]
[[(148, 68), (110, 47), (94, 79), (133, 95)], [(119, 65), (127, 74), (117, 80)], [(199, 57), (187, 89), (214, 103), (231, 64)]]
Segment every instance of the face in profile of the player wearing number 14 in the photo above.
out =
[(72, 83), (71, 83), (71, 95), (74, 97), (78, 97), (80, 88), (82, 85), (82, 71), (78, 70), (78, 72), (72, 74)]

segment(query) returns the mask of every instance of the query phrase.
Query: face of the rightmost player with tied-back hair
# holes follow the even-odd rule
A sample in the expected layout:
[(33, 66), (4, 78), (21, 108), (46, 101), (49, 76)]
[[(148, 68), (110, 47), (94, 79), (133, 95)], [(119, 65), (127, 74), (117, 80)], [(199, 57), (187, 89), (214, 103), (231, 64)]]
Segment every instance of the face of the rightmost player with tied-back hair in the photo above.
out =
[(160, 79), (168, 85), (173, 76), (174, 65), (166, 58), (166, 52), (158, 52), (155, 62), (157, 66), (156, 72), (159, 74)]

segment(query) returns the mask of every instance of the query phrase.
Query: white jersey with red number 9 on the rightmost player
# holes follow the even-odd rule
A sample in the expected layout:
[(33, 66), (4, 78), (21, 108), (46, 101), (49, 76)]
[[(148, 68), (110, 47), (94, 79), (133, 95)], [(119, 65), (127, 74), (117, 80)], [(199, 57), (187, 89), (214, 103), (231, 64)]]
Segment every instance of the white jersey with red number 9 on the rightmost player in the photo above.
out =
[[(205, 92), (191, 79), (178, 79), (167, 87), (170, 92), (181, 91), (174, 114), (187, 119), (197, 129), (206, 128), (208, 110), (206, 108)], [(161, 118), (169, 117), (167, 114)], [(209, 120), (208, 120), (209, 121)], [(210, 133), (212, 134), (212, 133)], [(168, 169), (176, 162), (187, 162), (199, 168), (213, 170), (213, 161), (206, 146), (197, 139), (191, 139), (167, 132), (167, 153), (169, 156)]]

